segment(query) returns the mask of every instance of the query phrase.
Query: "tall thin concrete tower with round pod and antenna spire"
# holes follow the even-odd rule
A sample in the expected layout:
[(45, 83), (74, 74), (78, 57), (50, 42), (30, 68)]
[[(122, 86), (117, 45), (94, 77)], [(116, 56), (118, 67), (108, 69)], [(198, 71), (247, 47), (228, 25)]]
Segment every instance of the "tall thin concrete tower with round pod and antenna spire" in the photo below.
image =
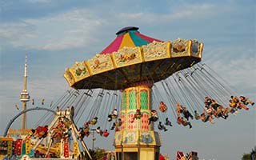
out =
[[(22, 102), (22, 110), (26, 110), (26, 102), (30, 101), (30, 94), (26, 91), (26, 83), (27, 83), (27, 54), (26, 54), (26, 62), (24, 67), (24, 85), (23, 90), (20, 95), (20, 100)], [(22, 114), (22, 130), (26, 129), (26, 113)]]

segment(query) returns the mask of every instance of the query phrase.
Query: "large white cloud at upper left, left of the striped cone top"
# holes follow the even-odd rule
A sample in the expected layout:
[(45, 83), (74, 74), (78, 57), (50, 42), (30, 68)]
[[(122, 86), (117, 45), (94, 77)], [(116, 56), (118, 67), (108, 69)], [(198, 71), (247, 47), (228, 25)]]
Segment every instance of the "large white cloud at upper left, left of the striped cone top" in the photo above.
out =
[(103, 20), (90, 10), (71, 10), (45, 18), (24, 19), (0, 25), (0, 38), (12, 46), (37, 50), (65, 50), (94, 42), (94, 33)]

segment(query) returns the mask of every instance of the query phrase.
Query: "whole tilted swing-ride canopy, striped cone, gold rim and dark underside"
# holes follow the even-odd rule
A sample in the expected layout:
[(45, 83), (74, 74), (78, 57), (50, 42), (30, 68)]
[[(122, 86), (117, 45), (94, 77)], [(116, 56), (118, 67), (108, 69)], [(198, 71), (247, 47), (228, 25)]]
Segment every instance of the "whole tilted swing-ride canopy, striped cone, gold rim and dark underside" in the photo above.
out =
[(64, 77), (75, 89), (123, 90), (138, 82), (158, 82), (201, 61), (202, 43), (196, 39), (163, 42), (128, 26), (101, 53), (66, 69)]

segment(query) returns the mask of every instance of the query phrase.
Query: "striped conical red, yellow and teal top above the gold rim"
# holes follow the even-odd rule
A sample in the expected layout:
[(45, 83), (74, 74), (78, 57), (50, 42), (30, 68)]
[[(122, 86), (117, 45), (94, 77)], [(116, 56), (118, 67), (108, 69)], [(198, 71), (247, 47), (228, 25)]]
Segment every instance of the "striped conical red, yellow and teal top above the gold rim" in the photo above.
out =
[(101, 54), (110, 54), (122, 49), (124, 46), (135, 47), (147, 45), (153, 41), (162, 42), (161, 40), (140, 34), (138, 32), (138, 27), (135, 26), (127, 26), (122, 28), (122, 30), (119, 30), (116, 34), (118, 35), (117, 38), (115, 38), (109, 46), (102, 50)]

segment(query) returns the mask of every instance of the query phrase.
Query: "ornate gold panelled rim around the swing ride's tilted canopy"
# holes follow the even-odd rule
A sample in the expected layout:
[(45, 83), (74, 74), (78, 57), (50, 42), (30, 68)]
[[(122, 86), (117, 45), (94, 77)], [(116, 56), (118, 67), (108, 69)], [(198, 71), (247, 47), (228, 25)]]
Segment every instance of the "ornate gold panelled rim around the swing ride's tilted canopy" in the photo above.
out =
[[(83, 79), (106, 71), (121, 69), (142, 62), (151, 62), (171, 58), (202, 58), (203, 43), (198, 40), (184, 40), (178, 38), (173, 42), (151, 42), (145, 46), (123, 47), (111, 54), (96, 54), (83, 62), (76, 62), (66, 69), (64, 78), (70, 86), (74, 86)], [(122, 69), (121, 69), (122, 70)], [(127, 76), (127, 75), (125, 75)]]

